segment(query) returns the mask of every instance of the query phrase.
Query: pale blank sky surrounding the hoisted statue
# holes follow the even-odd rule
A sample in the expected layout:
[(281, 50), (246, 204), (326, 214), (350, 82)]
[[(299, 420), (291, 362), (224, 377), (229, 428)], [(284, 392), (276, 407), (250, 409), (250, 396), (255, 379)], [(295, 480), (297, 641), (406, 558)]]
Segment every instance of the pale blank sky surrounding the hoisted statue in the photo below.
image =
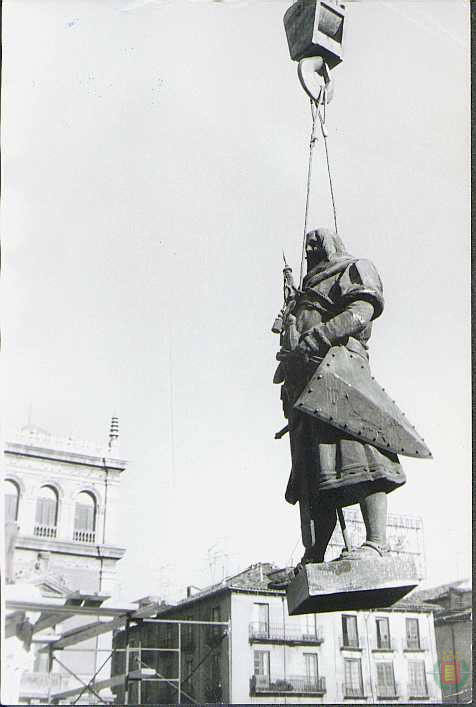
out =
[[(102, 442), (118, 415), (128, 600), (300, 557), (270, 331), (311, 127), (288, 5), (3, 3), (3, 435)], [(339, 231), (384, 283), (372, 371), (434, 456), (389, 496), (427, 586), (470, 572), (468, 17), (348, 3), (327, 112)], [(332, 226), (321, 143), (309, 223)]]

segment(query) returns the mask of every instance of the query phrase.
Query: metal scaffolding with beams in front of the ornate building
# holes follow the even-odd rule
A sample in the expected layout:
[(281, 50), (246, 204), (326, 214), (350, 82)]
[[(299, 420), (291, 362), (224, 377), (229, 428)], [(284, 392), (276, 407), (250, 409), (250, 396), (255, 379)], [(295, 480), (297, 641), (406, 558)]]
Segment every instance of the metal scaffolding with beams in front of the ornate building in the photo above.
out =
[[(139, 607), (135, 611), (128, 611), (120, 608), (113, 607), (103, 607), (101, 606), (101, 601), (98, 597), (95, 597), (96, 601), (92, 601), (92, 597), (89, 595), (74, 595), (74, 604), (72, 604), (72, 598), (66, 598), (66, 601), (62, 605), (51, 606), (51, 601), (38, 602), (38, 601), (25, 601), (25, 600), (10, 600), (6, 602), (7, 610), (13, 611), (12, 614), (7, 616), (7, 623), (10, 619), (9, 635), (14, 635), (12, 630), (12, 622), (14, 623), (18, 616), (23, 615), (27, 612), (40, 612), (40, 617), (34, 625), (34, 633), (44, 630), (45, 628), (54, 626), (60, 621), (67, 620), (73, 616), (94, 616), (96, 621), (93, 623), (78, 626), (69, 630), (64, 631), (55, 640), (45, 643), (45, 645), (39, 649), (38, 653), (46, 653), (49, 656), (48, 660), (48, 674), (54, 674), (52, 672), (52, 667), (57, 663), (63, 671), (66, 671), (71, 677), (77, 680), (80, 684), (71, 689), (63, 689), (60, 691), (53, 692), (48, 690), (47, 701), (44, 704), (59, 704), (65, 700), (72, 700), (75, 698), (72, 704), (79, 703), (82, 697), (93, 697), (97, 700), (97, 704), (110, 704), (111, 699), (108, 697), (101, 696), (101, 692), (106, 689), (122, 689), (124, 690), (124, 704), (145, 704), (142, 702), (143, 697), (143, 686), (144, 683), (165, 683), (174, 690), (176, 695), (177, 704), (180, 704), (182, 700), (185, 700), (190, 704), (199, 704), (193, 697), (189, 694), (186, 689), (186, 685), (190, 680), (192, 674), (194, 674), (198, 668), (213, 654), (214, 650), (222, 643), (222, 641), (227, 637), (228, 641), (231, 640), (231, 623), (230, 621), (198, 621), (191, 619), (160, 619), (156, 618), (160, 608), (158, 603), (152, 602), (145, 606)], [(172, 608), (172, 607), (171, 607)], [(175, 607), (173, 607), (175, 608)], [(177, 609), (179, 609), (177, 607)], [(103, 619), (102, 621), (100, 619)], [(109, 619), (104, 621), (104, 619)], [(145, 624), (164, 624), (172, 625), (177, 627), (177, 643), (174, 646), (167, 645), (166, 647), (161, 647), (159, 645), (155, 646), (144, 646), (142, 642), (143, 627)], [(182, 668), (182, 657), (183, 657), (183, 627), (187, 626), (201, 626), (209, 627), (213, 631), (220, 631), (216, 634), (216, 640), (214, 647), (212, 647), (209, 652), (203, 657), (202, 660), (195, 666), (191, 673), (188, 675), (183, 674)], [(100, 648), (97, 643), (94, 648), (78, 648), (78, 644), (83, 643), (91, 638), (97, 638), (101, 635), (123, 629), (124, 631), (124, 647), (116, 647), (112, 645), (110, 648)], [(138, 645), (131, 645), (131, 632), (137, 631), (139, 633)], [(76, 647), (75, 647), (76, 646)], [(90, 679), (83, 680), (78, 672), (68, 667), (58, 656), (58, 653), (68, 653), (68, 652), (84, 652), (84, 653), (94, 653), (95, 654), (95, 666), (96, 670), (94, 675)], [(144, 654), (174, 654), (177, 657), (177, 674), (174, 677), (165, 676), (163, 672), (159, 670), (158, 667), (154, 667), (148, 664)], [(112, 665), (112, 659), (115, 654), (124, 654), (124, 670), (120, 674), (111, 674), (110, 677), (105, 679), (97, 679), (98, 676), (108, 663)], [(99, 667), (99, 658), (103, 658)], [(228, 650), (228, 685), (231, 684), (231, 650)], [(134, 689), (135, 688), (135, 689)], [(136, 699), (131, 701), (131, 692), (134, 689)]]

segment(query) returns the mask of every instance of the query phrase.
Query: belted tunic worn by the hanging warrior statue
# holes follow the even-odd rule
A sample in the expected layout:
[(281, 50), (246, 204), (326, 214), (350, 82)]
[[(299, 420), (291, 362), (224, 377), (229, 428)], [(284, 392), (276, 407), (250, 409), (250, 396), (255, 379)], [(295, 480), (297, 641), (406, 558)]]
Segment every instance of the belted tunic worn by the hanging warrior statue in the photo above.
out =
[[(368, 260), (341, 256), (315, 268), (304, 279), (303, 293), (288, 316), (282, 346), (292, 350), (300, 335), (325, 325), (332, 331), (332, 345), (345, 346), (356, 357), (368, 360), (372, 320), (382, 310), (382, 283), (374, 265)], [(344, 312), (348, 313), (347, 318), (338, 316)], [(396, 454), (360, 442), (294, 409), (294, 402), (315, 369), (316, 364), (299, 356), (289, 357), (281, 364), (282, 400), (292, 457), (286, 500), (294, 504), (308, 496), (313, 505), (317, 502), (345, 506), (358, 503), (370, 493), (388, 493), (404, 484), (405, 474)]]

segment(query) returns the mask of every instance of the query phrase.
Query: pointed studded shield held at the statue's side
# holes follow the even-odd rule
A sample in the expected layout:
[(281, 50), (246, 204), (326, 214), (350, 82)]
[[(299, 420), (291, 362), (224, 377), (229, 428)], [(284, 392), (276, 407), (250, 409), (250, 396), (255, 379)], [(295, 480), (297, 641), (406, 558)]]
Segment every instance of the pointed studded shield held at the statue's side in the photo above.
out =
[(294, 407), (387, 452), (431, 457), (405, 414), (371, 376), (366, 359), (345, 346), (329, 349)]

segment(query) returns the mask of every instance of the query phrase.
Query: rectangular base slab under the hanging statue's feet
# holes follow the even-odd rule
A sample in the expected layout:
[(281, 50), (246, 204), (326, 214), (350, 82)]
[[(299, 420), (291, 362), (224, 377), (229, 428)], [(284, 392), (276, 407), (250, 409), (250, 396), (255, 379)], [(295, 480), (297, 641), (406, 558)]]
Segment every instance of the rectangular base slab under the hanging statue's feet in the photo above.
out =
[(286, 595), (290, 616), (391, 606), (418, 585), (411, 558), (335, 560), (303, 565)]

